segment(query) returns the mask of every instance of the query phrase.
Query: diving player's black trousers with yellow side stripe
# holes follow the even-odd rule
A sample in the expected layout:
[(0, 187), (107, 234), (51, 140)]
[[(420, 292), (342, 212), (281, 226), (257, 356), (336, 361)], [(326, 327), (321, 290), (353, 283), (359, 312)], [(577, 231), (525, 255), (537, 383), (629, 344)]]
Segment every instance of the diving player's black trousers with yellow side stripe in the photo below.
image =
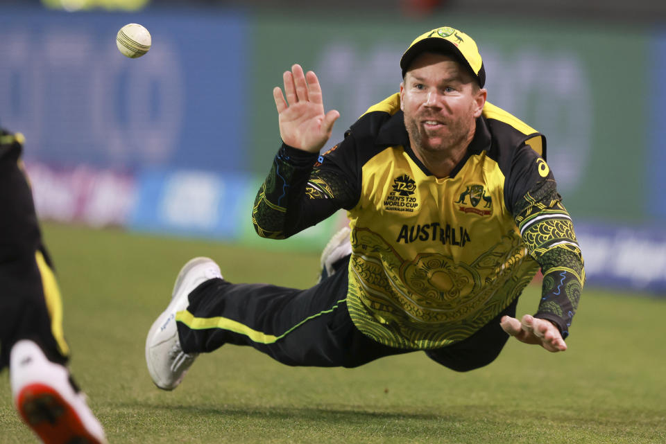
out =
[[(338, 272), (306, 290), (206, 281), (189, 294), (189, 314), (176, 317), (183, 350), (212, 352), (235, 344), (253, 346), (291, 366), (343, 367), (416, 351), (379, 344), (356, 328), (345, 303), (349, 257), (340, 262)], [(515, 316), (517, 302), (468, 339), (425, 353), (455, 371), (490, 364), (509, 339), (499, 319)]]

